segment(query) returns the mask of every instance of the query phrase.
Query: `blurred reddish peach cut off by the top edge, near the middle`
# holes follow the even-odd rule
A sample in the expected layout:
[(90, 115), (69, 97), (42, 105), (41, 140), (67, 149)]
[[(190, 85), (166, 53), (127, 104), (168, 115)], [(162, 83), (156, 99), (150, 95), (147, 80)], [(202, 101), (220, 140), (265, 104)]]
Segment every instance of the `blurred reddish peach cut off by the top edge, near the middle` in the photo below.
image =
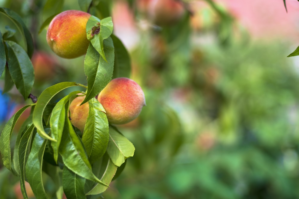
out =
[(149, 17), (157, 25), (172, 25), (184, 15), (185, 9), (176, 0), (152, 0), (149, 2)]

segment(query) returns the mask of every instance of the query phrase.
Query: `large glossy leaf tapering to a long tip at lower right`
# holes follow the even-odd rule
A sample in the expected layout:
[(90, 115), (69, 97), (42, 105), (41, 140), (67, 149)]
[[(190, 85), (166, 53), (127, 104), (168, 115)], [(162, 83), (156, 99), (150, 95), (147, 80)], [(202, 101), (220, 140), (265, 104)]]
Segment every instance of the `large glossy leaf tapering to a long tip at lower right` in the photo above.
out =
[(91, 164), (88, 161), (82, 142), (74, 131), (68, 117), (65, 119), (59, 153), (68, 169), (83, 178), (108, 186), (100, 181), (92, 172)]

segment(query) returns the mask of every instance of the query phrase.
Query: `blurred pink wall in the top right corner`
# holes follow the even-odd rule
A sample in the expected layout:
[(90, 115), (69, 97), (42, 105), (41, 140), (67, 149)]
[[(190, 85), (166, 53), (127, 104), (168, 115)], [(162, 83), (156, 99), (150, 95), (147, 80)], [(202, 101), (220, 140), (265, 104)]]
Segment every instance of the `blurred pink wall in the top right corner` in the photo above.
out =
[(299, 41), (299, 2), (286, 0), (217, 0), (255, 38)]

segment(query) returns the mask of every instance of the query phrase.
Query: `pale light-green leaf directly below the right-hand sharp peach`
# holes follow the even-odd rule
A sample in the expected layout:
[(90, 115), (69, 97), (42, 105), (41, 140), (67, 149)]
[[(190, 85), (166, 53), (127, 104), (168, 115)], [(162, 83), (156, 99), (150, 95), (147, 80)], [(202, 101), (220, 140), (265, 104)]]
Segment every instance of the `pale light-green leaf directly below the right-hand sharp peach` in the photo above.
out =
[(125, 136), (120, 134), (115, 127), (109, 128), (109, 143), (107, 153), (109, 154), (113, 163), (120, 167), (126, 158), (134, 155), (135, 147)]

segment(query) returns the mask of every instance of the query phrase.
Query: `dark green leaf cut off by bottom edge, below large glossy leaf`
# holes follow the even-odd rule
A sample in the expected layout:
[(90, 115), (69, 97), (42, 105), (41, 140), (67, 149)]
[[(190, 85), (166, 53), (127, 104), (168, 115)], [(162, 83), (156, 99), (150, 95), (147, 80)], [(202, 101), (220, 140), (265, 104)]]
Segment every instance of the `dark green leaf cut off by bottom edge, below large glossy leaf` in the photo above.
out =
[(62, 186), (66, 198), (86, 198), (84, 192), (85, 181), (85, 178), (72, 172), (67, 167), (63, 167)]

